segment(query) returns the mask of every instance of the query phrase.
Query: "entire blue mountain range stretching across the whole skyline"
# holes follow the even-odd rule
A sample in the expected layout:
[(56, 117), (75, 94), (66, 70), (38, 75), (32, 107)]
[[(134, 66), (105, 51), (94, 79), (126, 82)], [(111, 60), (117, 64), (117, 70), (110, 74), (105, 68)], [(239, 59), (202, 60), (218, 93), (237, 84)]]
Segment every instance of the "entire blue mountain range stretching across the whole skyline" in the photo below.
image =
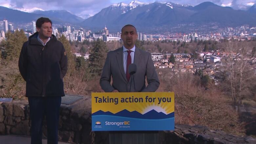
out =
[(140, 30), (165, 27), (172, 29), (178, 25), (208, 25), (220, 27), (256, 24), (256, 5), (248, 10), (234, 10), (231, 7), (218, 6), (212, 2), (203, 2), (197, 6), (179, 5), (171, 2), (129, 4), (118, 3), (102, 9), (87, 19), (78, 17), (66, 10), (36, 10), (32, 13), (0, 7), (0, 19), (12, 23), (28, 23), (44, 16), (54, 24), (75, 24), (88, 29), (99, 30), (107, 26), (111, 30), (120, 30), (126, 24), (133, 24)]

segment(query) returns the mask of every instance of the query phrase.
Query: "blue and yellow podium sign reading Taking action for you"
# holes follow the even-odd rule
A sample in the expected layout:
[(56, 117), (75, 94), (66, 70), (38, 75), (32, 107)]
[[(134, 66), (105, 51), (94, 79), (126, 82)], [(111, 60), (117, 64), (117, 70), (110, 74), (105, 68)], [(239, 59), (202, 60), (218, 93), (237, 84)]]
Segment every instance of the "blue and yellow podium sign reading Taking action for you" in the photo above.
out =
[(92, 131), (174, 130), (174, 93), (92, 93)]

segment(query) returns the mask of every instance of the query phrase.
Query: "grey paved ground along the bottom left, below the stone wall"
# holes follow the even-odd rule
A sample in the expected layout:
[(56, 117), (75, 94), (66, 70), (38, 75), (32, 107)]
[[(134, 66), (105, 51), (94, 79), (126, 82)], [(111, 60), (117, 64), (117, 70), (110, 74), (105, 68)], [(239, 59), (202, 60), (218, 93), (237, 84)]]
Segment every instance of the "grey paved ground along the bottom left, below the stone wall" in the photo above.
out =
[[(30, 144), (29, 136), (22, 135), (0, 135), (1, 144)], [(47, 144), (47, 139), (42, 140), (43, 144)], [(58, 142), (58, 144), (68, 144), (65, 142)]]

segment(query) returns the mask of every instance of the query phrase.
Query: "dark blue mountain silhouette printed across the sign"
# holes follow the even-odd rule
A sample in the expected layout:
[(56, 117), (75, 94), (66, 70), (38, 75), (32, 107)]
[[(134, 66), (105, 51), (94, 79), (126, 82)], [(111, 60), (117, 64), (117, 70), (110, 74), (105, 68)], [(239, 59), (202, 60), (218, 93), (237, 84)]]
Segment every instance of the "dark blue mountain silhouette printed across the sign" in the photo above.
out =
[(169, 114), (164, 114), (162, 112), (157, 112), (155, 110), (151, 110), (145, 114), (141, 114), (137, 111), (129, 112), (127, 110), (122, 110), (118, 113), (111, 113), (111, 112), (103, 112), (103, 111), (97, 111), (93, 113), (92, 115), (113, 115), (113, 116), (121, 116), (121, 117), (130, 117), (130, 118), (139, 118), (139, 119), (166, 119), (174, 117), (174, 112)]

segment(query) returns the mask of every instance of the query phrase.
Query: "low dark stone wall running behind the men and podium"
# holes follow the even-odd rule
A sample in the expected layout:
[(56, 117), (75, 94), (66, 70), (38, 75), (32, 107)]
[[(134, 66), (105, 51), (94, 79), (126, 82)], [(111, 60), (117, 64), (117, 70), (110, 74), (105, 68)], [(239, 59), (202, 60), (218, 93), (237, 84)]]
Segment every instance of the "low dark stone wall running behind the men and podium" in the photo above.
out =
[[(27, 100), (13, 100), (0, 105), (0, 134), (30, 135), (31, 122)], [(59, 141), (79, 144), (108, 144), (108, 132), (91, 131), (91, 98), (84, 97), (72, 105), (61, 104), (59, 121)], [(46, 120), (43, 137), (47, 137)], [(240, 137), (212, 131), (203, 126), (175, 125), (175, 131), (159, 132), (159, 143), (180, 144), (255, 144), (252, 137)]]

